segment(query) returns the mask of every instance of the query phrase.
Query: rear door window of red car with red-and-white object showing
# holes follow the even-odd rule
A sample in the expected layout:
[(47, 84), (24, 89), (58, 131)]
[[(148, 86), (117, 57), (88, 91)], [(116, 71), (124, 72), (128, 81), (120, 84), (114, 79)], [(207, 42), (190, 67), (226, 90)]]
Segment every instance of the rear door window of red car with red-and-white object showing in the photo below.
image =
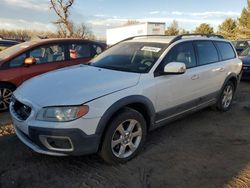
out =
[(90, 58), (92, 56), (89, 44), (69, 45), (70, 59)]

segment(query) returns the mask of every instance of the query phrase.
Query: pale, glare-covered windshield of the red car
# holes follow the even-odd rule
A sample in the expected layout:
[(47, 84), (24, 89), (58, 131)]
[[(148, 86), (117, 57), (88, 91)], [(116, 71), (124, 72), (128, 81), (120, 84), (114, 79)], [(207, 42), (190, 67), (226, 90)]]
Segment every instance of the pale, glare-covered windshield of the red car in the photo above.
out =
[(17, 52), (19, 52), (22, 49), (28, 48), (29, 46), (31, 46), (35, 43), (36, 43), (35, 41), (24, 42), (24, 43), (14, 45), (10, 48), (7, 48), (7, 49), (1, 51), (0, 52), (0, 61), (16, 54)]

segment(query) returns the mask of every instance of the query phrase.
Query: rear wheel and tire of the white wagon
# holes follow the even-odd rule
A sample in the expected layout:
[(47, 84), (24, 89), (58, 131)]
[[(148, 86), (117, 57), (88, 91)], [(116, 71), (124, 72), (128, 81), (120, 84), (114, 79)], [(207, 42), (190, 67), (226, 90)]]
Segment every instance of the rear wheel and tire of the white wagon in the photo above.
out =
[(230, 110), (233, 103), (235, 86), (231, 81), (228, 81), (223, 87), (220, 98), (217, 102), (217, 109), (222, 112)]

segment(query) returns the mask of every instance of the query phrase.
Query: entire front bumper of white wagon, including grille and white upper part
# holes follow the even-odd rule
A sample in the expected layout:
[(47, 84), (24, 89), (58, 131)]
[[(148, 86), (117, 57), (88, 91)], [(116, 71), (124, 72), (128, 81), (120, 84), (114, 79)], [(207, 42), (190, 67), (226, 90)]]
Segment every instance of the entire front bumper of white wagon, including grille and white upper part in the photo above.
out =
[[(98, 151), (101, 136), (95, 132), (100, 118), (79, 118), (70, 122), (37, 121), (35, 114), (39, 107), (33, 106), (29, 101), (19, 101), (23, 100), (15, 98), (10, 104), (16, 135), (35, 152), (65, 156), (86, 155)], [(25, 110), (28, 107), (31, 111)], [(24, 116), (27, 112), (27, 116)]]

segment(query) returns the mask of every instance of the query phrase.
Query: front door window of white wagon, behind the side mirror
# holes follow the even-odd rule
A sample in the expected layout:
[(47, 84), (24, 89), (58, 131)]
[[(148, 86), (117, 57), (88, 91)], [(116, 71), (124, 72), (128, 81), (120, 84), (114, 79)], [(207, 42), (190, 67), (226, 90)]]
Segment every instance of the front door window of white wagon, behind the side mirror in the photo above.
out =
[(162, 68), (170, 62), (182, 62), (187, 68), (196, 66), (194, 48), (191, 42), (185, 42), (174, 46), (164, 59)]

